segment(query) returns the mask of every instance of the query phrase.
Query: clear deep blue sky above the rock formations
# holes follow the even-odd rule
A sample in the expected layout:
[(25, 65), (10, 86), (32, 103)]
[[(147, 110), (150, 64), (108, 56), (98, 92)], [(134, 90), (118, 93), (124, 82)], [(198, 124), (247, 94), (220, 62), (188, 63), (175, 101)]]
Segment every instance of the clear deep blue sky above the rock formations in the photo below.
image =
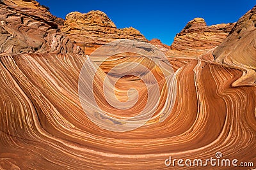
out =
[(207, 25), (236, 22), (255, 6), (255, 0), (39, 0), (49, 6), (57, 17), (65, 18), (72, 11), (87, 13), (104, 11), (116, 27), (134, 27), (147, 39), (158, 38), (171, 45), (175, 34), (195, 17), (205, 19)]

